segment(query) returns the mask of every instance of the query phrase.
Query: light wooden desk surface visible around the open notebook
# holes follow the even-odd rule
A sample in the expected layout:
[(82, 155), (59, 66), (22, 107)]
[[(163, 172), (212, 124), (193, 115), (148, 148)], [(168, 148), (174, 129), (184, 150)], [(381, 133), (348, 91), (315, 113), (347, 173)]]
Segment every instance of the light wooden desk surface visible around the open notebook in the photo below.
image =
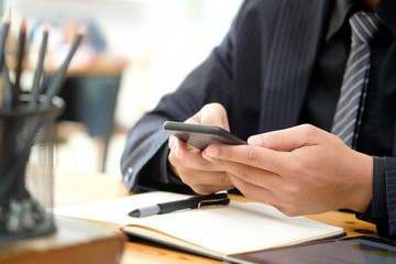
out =
[[(89, 190), (89, 191), (87, 191)], [(99, 201), (129, 195), (121, 179), (103, 174), (78, 174), (57, 172), (55, 176), (55, 206), (78, 205)], [(233, 196), (237, 200), (248, 200)], [(376, 235), (375, 226), (358, 220), (354, 215), (346, 212), (324, 212), (307, 216), (328, 224), (342, 227), (348, 237)], [(156, 246), (151, 242), (127, 242), (122, 264), (130, 263), (220, 263), (219, 261), (196, 256), (179, 251)]]

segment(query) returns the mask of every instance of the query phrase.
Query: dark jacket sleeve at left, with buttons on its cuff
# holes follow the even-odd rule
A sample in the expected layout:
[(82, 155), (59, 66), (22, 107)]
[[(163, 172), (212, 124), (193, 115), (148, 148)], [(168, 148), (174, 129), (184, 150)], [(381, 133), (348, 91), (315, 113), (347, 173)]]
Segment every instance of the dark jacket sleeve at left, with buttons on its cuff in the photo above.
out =
[(187, 76), (175, 92), (164, 96), (156, 108), (143, 116), (129, 132), (121, 158), (121, 170), (129, 190), (157, 188), (155, 183), (148, 180), (152, 175), (158, 182), (169, 184), (166, 183), (166, 165), (163, 163), (166, 160), (168, 140), (168, 134), (162, 130), (165, 121), (185, 121), (210, 102), (219, 102), (228, 108), (235, 35), (241, 31), (239, 23), (245, 16), (245, 8), (246, 3), (243, 3), (221, 45)]

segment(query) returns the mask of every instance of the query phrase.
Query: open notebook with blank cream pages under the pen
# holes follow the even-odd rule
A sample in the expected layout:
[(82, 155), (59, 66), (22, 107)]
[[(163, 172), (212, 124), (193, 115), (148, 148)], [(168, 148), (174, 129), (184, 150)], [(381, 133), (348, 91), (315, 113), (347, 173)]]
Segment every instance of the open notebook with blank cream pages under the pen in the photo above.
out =
[(304, 217), (287, 217), (258, 202), (231, 201), (228, 206), (182, 210), (131, 218), (131, 210), (185, 199), (189, 196), (154, 191), (54, 209), (56, 215), (120, 224), (135, 237), (222, 260), (224, 255), (342, 235), (339, 227)]

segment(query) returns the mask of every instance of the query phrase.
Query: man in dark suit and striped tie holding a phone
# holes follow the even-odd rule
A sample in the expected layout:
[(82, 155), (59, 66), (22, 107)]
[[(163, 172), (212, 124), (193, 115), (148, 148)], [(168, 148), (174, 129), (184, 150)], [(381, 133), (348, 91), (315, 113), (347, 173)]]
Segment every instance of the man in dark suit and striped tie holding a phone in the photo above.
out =
[[(223, 42), (130, 131), (130, 190), (238, 189), (289, 216), (350, 209), (396, 234), (396, 2), (248, 0)], [(212, 124), (202, 152), (162, 131)]]

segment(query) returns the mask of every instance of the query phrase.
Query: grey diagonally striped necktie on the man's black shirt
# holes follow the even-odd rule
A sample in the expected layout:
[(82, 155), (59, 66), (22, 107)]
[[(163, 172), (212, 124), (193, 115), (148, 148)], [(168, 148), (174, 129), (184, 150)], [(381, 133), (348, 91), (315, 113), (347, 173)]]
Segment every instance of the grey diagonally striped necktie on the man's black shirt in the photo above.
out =
[(351, 52), (346, 62), (340, 98), (337, 103), (331, 133), (354, 148), (364, 110), (370, 74), (370, 41), (378, 31), (380, 19), (374, 13), (353, 14)]

